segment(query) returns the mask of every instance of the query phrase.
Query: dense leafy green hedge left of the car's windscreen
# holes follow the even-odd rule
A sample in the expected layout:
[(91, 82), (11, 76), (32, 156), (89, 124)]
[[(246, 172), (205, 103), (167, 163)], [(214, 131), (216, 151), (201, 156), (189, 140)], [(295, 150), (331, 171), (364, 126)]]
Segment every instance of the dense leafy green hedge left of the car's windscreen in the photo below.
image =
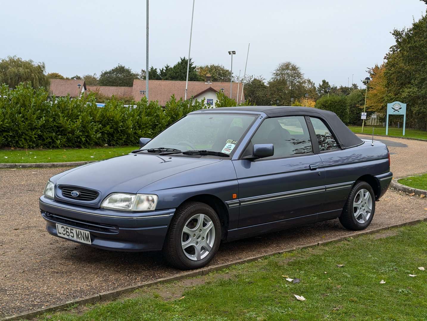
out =
[(62, 148), (135, 145), (140, 137), (153, 137), (185, 114), (205, 108), (205, 101), (172, 97), (162, 108), (146, 98), (123, 107), (112, 98), (105, 107), (94, 95), (80, 99), (48, 100), (43, 88), (19, 85), (0, 87), (0, 147)]

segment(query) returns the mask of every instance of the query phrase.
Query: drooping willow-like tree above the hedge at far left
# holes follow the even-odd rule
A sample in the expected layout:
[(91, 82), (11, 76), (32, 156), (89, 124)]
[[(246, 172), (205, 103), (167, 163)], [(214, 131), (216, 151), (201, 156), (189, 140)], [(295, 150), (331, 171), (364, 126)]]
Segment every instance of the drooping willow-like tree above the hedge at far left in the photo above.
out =
[(46, 67), (43, 62), (22, 60), (16, 56), (8, 56), (0, 61), (0, 84), (15, 88), (21, 82), (28, 82), (35, 89), (48, 88), (50, 81), (44, 74)]

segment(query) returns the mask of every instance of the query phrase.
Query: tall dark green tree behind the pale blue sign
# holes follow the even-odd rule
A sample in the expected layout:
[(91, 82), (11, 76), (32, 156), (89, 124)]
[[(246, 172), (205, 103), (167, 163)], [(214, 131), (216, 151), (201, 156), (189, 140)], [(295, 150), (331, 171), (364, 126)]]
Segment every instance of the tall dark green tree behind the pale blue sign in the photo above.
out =
[[(410, 28), (394, 29), (395, 45), (386, 54), (388, 102), (407, 103), (407, 122), (427, 130), (427, 15)], [(409, 127), (408, 126), (408, 127)]]

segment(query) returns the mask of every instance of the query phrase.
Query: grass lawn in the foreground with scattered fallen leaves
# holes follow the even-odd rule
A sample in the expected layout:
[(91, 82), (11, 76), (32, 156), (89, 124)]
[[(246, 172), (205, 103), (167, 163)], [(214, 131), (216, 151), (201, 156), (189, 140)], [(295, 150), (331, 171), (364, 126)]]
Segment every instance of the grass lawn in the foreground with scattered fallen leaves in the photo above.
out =
[[(417, 268), (427, 268), (426, 234), (427, 223), (420, 223), (277, 254), (195, 278), (196, 284), (186, 280), (157, 285), (137, 290), (128, 298), (44, 318), (425, 320), (427, 269)], [(301, 281), (294, 284), (287, 276)], [(175, 299), (164, 300), (165, 293), (175, 293)], [(306, 301), (298, 301), (294, 295), (302, 295)]]

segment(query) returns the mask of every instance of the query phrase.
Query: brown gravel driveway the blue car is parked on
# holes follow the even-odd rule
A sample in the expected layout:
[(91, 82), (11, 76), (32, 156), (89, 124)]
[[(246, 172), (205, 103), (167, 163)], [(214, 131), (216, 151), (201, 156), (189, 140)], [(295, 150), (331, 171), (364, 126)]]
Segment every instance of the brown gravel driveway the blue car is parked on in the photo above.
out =
[[(427, 172), (427, 162), (420, 162), (427, 142), (396, 140), (407, 147), (390, 147), (395, 176)], [(109, 252), (48, 234), (38, 197), (47, 179), (61, 171), (0, 170), (0, 316), (181, 273), (166, 266), (158, 252)], [(426, 198), (388, 191), (377, 203), (369, 229), (426, 217), (426, 208)], [(211, 264), (351, 233), (332, 220), (224, 243)]]

